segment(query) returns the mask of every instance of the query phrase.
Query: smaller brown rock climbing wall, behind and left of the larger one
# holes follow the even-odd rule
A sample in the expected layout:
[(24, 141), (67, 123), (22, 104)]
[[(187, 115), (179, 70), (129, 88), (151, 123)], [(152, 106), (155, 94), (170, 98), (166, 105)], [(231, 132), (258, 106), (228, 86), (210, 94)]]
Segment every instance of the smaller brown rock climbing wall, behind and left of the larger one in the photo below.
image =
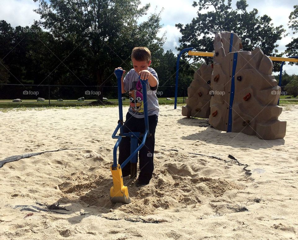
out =
[(210, 83), (212, 74), (211, 65), (202, 64), (187, 88), (186, 106), (182, 107), (182, 115), (188, 118), (209, 118), (210, 115)]

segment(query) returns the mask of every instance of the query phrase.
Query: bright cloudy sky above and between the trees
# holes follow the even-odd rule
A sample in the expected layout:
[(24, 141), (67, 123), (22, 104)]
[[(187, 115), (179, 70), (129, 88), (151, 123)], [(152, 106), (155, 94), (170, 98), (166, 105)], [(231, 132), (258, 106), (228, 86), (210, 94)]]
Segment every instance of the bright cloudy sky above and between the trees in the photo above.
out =
[[(174, 53), (177, 53), (175, 47), (178, 46), (178, 39), (181, 36), (178, 29), (175, 28), (176, 23), (187, 24), (192, 21), (192, 18), (196, 17), (197, 8), (192, 7), (193, 0), (141, 0), (142, 4), (149, 3), (151, 8), (149, 12), (159, 12), (164, 8), (161, 14), (161, 23), (163, 27), (160, 35), (166, 32), (167, 40), (164, 45), (165, 50), (172, 49)], [(260, 15), (267, 14), (272, 18), (274, 26), (284, 25), (284, 28), (288, 30), (287, 23), (290, 13), (293, 11), (295, 1), (290, 0), (248, 0), (248, 10), (257, 8)], [(282, 3), (282, 4), (281, 4)], [(236, 7), (236, 0), (232, 0), (233, 7)], [(5, 20), (11, 24), (12, 27), (17, 25), (25, 26), (33, 23), (34, 20), (39, 19), (39, 15), (33, 12), (33, 9), (38, 7), (38, 3), (33, 0), (0, 0), (0, 20)], [(290, 31), (291, 32), (291, 31)], [(289, 34), (278, 41), (278, 52), (285, 50), (285, 45), (291, 42), (291, 38), (294, 35)], [(297, 36), (297, 33), (295, 35)], [(284, 65), (284, 70), (287, 73), (298, 74), (298, 66)]]

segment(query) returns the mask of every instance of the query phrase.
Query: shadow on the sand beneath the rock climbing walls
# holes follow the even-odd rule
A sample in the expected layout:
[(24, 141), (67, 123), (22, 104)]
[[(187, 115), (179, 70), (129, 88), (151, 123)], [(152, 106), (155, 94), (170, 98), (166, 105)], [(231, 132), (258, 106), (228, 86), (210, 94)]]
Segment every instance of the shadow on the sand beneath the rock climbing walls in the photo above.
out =
[[(246, 135), (242, 132), (222, 132), (209, 124), (208, 119), (182, 118), (177, 121), (185, 126), (196, 126), (197, 132), (188, 136), (183, 136), (182, 139), (204, 141), (207, 144), (231, 146), (234, 148), (251, 148), (251, 149), (266, 149), (273, 146), (285, 144), (285, 140), (264, 140), (257, 136)], [(207, 127), (207, 128), (205, 128)]]

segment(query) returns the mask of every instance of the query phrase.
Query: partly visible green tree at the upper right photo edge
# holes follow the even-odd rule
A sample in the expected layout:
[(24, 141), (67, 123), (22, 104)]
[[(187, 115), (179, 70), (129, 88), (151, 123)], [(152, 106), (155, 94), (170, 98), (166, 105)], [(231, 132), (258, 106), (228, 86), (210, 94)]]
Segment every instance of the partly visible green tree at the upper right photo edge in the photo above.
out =
[[(289, 16), (289, 28), (293, 30), (293, 35), (298, 32), (298, 5), (294, 6), (294, 11), (290, 13)], [(286, 45), (286, 54), (288, 57), (297, 56), (298, 55), (298, 38), (292, 37), (292, 41)], [(290, 62), (291, 65), (296, 64), (298, 62), (293, 63)]]

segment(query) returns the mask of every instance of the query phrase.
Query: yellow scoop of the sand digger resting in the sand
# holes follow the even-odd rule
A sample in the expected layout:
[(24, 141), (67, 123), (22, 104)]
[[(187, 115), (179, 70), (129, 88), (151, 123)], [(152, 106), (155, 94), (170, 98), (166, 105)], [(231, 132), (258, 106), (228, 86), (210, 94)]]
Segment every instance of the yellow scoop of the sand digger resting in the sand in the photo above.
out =
[(110, 200), (112, 203), (130, 203), (128, 188), (123, 185), (121, 166), (120, 164), (117, 164), (116, 168), (113, 168), (112, 166), (113, 164), (111, 165), (113, 186), (110, 189)]

